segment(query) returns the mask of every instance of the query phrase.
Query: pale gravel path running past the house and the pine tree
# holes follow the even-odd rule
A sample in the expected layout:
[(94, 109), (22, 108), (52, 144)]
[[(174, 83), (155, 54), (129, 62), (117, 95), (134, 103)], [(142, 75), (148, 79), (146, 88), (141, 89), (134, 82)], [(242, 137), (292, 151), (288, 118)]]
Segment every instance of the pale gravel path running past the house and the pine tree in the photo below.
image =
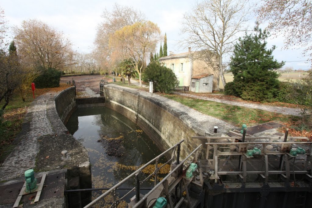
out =
[(193, 95), (193, 94), (180, 93), (180, 92), (175, 92), (174, 94), (178, 94), (178, 95), (182, 95), (182, 96), (186, 96), (186, 97), (190, 97), (190, 98), (195, 98), (195, 99), (214, 101), (217, 103), (225, 103), (225, 104), (229, 104), (229, 105), (236, 105), (236, 106), (241, 106), (241, 107), (246, 107), (246, 108), (261, 109), (261, 110), (266, 110), (266, 111), (285, 114), (285, 115), (300, 116), (300, 113), (301, 113), (300, 109), (295, 109), (295, 108), (268, 106), (268, 105), (261, 105), (261, 104), (252, 104), (252, 103), (243, 103), (243, 102), (237, 102), (237, 101), (231, 101), (231, 100), (225, 100), (225, 99), (208, 98), (208, 97), (197, 96), (197, 95)]

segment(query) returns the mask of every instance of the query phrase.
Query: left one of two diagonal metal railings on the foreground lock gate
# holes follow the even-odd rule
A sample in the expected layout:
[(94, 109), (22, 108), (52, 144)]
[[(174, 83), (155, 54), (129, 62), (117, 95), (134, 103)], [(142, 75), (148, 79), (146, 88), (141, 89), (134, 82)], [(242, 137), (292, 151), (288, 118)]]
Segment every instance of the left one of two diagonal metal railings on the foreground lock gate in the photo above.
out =
[[(130, 174), (128, 177), (124, 178), (122, 181), (117, 183), (115, 186), (111, 187), (108, 191), (106, 191), (105, 193), (103, 193), (102, 195), (97, 197), (94, 201), (92, 201), (88, 205), (86, 205), (85, 208), (91, 207), (97, 201), (101, 200), (103, 197), (108, 196), (108, 195), (112, 195), (112, 197), (113, 197), (113, 203), (112, 203), (112, 205), (110, 207), (117, 207), (118, 204), (120, 203), (120, 201), (123, 200), (126, 196), (128, 196), (134, 190), (136, 191), (136, 194), (135, 194), (136, 199), (135, 200), (136, 201), (140, 201), (140, 199), (139, 199), (139, 185), (142, 184), (144, 181), (149, 180), (154, 175), (154, 181), (155, 181), (154, 182), (154, 186), (156, 187), (157, 186), (157, 175), (158, 175), (158, 172), (159, 172), (160, 168), (162, 168), (163, 166), (165, 166), (167, 164), (171, 164), (171, 162), (173, 162), (175, 160), (175, 153), (176, 152), (177, 152), (177, 159), (176, 160), (179, 161), (179, 154), (180, 153), (176, 149), (178, 149), (178, 150), (180, 149), (180, 145), (181, 145), (182, 142), (184, 142), (184, 139), (181, 140), (180, 142), (178, 142), (177, 144), (175, 144), (173, 147), (171, 147), (168, 150), (166, 150), (165, 152), (161, 153), (157, 157), (155, 157), (153, 160), (151, 160), (148, 163), (146, 163), (144, 166), (140, 167), (138, 170), (136, 170), (135, 172)], [(158, 162), (159, 162), (160, 157), (165, 157), (165, 155), (168, 154), (170, 151), (172, 151), (171, 158), (167, 162), (163, 163), (162, 166), (158, 167)], [(151, 173), (149, 176), (145, 177), (143, 180), (139, 180), (140, 172), (142, 172), (142, 170), (144, 168), (146, 168), (147, 166), (149, 166), (153, 162), (155, 162), (154, 172)], [(121, 198), (117, 199), (116, 190), (118, 189), (119, 186), (122, 186), (124, 183), (126, 183), (129, 180), (135, 181), (136, 186), (133, 189), (131, 189), (129, 192), (127, 192), (124, 196), (122, 196)]]

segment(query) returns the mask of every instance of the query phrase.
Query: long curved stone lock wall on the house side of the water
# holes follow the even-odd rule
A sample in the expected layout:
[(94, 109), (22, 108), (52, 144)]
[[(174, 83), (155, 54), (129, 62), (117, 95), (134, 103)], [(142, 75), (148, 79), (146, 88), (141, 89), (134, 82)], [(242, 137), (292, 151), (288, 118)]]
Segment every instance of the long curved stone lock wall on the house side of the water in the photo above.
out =
[(182, 157), (186, 157), (199, 144), (203, 144), (201, 153), (206, 152), (205, 142), (193, 140), (192, 136), (211, 136), (213, 126), (218, 124), (220, 131), (227, 130), (223, 121), (175, 101), (116, 85), (105, 85), (105, 106), (137, 122), (163, 151), (184, 139), (181, 145)]

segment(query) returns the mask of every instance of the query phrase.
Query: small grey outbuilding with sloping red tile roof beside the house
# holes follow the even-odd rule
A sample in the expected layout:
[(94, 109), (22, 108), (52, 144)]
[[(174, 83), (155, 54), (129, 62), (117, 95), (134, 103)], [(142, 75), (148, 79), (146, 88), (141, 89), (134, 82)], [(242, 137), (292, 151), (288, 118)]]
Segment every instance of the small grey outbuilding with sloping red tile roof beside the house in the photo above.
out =
[(202, 74), (193, 76), (191, 79), (192, 92), (212, 92), (213, 74)]

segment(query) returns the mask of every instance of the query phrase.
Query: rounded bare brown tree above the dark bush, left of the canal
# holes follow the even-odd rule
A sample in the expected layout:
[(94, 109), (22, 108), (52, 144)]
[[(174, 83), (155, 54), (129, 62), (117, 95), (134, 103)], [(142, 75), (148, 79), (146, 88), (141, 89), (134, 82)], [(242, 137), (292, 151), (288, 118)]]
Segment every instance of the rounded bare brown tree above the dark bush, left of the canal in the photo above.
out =
[(23, 21), (14, 33), (19, 54), (33, 67), (62, 70), (70, 63), (71, 42), (46, 23), (36, 19)]

